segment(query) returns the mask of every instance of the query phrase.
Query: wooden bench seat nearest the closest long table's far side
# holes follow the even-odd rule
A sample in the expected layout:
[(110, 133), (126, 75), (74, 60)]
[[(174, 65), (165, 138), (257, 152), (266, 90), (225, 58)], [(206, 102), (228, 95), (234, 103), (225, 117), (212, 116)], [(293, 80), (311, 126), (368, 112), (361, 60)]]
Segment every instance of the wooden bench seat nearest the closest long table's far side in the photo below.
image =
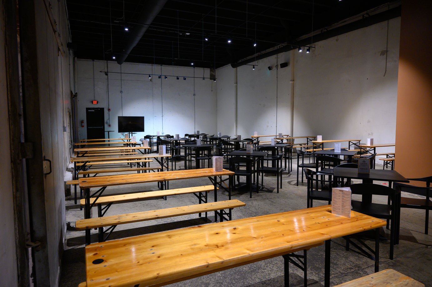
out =
[(203, 213), (217, 211), (223, 209), (233, 209), (235, 207), (245, 206), (246, 204), (240, 200), (223, 200), (212, 203), (202, 203), (187, 206), (178, 206), (165, 209), (149, 210), (142, 212), (133, 212), (121, 215), (111, 215), (105, 217), (79, 219), (75, 222), (76, 230), (84, 230), (90, 228), (100, 228), (119, 224), (147, 221), (159, 218), (168, 218), (180, 215), (188, 215), (194, 213)]

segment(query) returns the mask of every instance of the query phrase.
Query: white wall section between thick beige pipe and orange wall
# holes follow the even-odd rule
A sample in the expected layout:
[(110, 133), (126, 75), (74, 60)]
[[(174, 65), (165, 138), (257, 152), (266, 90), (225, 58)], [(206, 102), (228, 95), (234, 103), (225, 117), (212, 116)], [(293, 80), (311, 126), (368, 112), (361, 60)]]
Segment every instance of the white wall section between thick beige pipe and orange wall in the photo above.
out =
[(400, 18), (388, 21), (385, 76), (387, 21), (295, 53), (295, 135), (394, 143), (399, 34)]

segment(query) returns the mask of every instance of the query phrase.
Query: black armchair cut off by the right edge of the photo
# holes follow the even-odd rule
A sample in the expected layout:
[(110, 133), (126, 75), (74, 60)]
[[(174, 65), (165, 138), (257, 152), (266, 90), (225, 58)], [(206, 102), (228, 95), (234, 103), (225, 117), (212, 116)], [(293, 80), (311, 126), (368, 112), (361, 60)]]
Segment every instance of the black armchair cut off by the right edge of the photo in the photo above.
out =
[[(410, 179), (412, 180), (412, 179)], [(426, 217), (425, 217), (425, 234), (428, 234), (429, 231), (429, 210), (432, 209), (432, 187), (419, 187), (413, 186), (410, 184), (402, 184), (399, 182), (395, 182), (393, 184), (393, 188), (396, 190), (400, 190), (406, 193), (411, 193), (415, 195), (419, 195), (425, 198), (413, 198), (413, 197), (400, 197), (400, 207), (401, 208), (413, 208), (413, 209), (425, 209)]]

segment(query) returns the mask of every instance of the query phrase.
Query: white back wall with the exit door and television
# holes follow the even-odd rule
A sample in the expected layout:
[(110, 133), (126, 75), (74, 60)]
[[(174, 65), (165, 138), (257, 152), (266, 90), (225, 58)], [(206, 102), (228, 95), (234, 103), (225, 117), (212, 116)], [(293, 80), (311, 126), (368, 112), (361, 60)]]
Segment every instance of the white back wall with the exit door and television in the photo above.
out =
[[(99, 71), (109, 71), (108, 76)], [(194, 77), (194, 72), (195, 77), (201, 78), (195, 78), (195, 81), (194, 78), (183, 80), (183, 76)], [(207, 78), (204, 81), (203, 72)], [(159, 79), (153, 75), (150, 81), (148, 74), (168, 75), (168, 79), (165, 80), (163, 76)], [(107, 66), (107, 62), (79, 59), (77, 75), (77, 121), (85, 121), (85, 128), (79, 129), (80, 139), (87, 136), (86, 108), (105, 108), (105, 121), (108, 120), (108, 91), (111, 127), (106, 124), (105, 130), (115, 131), (110, 133), (111, 138), (120, 137), (117, 131), (118, 116), (121, 115), (145, 117), (145, 131), (136, 135), (138, 139), (146, 134), (156, 134), (157, 131), (172, 135), (191, 134), (196, 130), (209, 134), (216, 132), (216, 82), (208, 79), (209, 69), (203, 71), (202, 68), (192, 67), (155, 67), (127, 62), (118, 65), (112, 61)], [(172, 75), (181, 77), (177, 80)], [(123, 94), (120, 93), (121, 90)], [(92, 105), (93, 99), (99, 103)]]

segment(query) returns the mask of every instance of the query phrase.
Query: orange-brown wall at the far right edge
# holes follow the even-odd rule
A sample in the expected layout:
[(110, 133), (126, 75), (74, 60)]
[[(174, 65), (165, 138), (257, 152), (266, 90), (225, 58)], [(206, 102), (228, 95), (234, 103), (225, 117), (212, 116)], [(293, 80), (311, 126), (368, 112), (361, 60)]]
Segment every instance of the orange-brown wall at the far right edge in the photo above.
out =
[(432, 175), (432, 1), (403, 0), (397, 83), (395, 169)]

